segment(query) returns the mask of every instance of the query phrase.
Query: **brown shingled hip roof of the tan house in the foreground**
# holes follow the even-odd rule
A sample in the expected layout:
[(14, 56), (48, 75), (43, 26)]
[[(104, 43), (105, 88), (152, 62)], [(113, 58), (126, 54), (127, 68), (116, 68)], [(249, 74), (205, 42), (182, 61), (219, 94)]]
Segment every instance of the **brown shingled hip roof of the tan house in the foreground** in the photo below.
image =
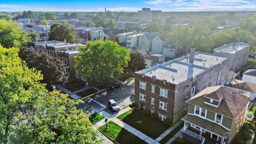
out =
[[(220, 101), (219, 106), (207, 105), (204, 103), (207, 98)], [(245, 95), (235, 92), (227, 86), (219, 85), (207, 87), (189, 99), (187, 103), (235, 119), (249, 101), (250, 98)]]

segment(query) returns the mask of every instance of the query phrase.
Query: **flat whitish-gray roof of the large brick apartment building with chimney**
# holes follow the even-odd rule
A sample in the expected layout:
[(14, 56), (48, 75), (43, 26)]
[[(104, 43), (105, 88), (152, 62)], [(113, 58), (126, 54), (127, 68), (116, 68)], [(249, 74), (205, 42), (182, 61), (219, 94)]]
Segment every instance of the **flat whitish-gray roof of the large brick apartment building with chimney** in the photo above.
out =
[(157, 79), (165, 79), (172, 84), (179, 84), (189, 78), (196, 77), (207, 68), (218, 65), (226, 59), (228, 57), (224, 55), (196, 52), (193, 65), (189, 63), (189, 55), (185, 55), (135, 73), (145, 74), (149, 77), (156, 76)]

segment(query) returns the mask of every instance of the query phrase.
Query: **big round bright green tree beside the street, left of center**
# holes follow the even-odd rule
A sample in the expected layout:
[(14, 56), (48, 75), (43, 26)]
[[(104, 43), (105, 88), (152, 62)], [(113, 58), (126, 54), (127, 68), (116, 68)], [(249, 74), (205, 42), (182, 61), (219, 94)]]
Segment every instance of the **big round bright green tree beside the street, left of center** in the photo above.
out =
[(113, 41), (89, 42), (78, 50), (80, 53), (75, 57), (75, 69), (93, 83), (114, 82), (130, 61), (128, 50)]

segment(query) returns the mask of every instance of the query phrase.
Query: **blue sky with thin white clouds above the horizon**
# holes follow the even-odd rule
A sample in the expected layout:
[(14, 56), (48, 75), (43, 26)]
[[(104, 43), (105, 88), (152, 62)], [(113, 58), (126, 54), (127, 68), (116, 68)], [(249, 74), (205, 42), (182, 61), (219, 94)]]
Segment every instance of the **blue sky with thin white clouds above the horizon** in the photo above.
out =
[(0, 11), (256, 11), (256, 0), (0, 0)]

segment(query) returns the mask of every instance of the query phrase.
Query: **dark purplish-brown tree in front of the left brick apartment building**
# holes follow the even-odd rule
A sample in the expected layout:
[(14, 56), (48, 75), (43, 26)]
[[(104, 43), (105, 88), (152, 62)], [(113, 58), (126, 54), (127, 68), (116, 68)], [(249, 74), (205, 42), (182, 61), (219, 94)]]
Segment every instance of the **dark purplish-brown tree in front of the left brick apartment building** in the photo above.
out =
[(51, 55), (43, 53), (38, 54), (33, 49), (22, 48), (20, 50), (20, 58), (27, 62), (29, 68), (36, 68), (42, 71), (46, 83), (46, 88), (51, 90), (52, 84), (62, 84), (67, 82), (65, 75), (65, 65), (60, 60), (51, 57)]

